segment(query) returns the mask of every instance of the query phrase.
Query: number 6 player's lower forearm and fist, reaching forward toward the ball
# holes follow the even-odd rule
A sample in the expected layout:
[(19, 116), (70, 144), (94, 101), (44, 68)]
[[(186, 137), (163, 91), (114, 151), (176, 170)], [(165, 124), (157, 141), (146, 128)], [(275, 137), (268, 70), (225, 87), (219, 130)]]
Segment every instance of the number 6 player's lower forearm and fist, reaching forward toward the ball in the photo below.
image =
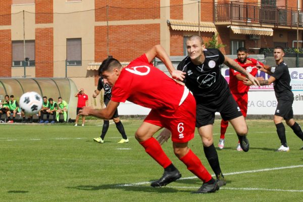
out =
[(100, 119), (111, 119), (114, 116), (119, 104), (120, 103), (110, 100), (106, 108), (101, 110), (92, 109), (91, 107), (83, 107), (82, 110), (79, 110), (79, 115), (94, 116)]

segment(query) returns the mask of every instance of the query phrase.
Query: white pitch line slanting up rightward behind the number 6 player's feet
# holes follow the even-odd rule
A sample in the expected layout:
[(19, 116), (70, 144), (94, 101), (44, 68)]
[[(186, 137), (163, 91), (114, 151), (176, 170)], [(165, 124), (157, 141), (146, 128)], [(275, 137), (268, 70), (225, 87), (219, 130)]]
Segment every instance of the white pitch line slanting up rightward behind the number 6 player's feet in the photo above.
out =
[[(257, 172), (265, 172), (265, 171), (281, 170), (281, 169), (289, 169), (289, 168), (300, 168), (300, 167), (303, 167), (303, 165), (277, 167), (277, 168), (266, 168), (266, 169), (249, 170), (249, 171), (239, 171), (239, 172), (232, 172), (232, 173), (224, 173), (224, 175), (237, 175), (237, 174), (243, 174), (243, 173), (257, 173)], [(195, 179), (195, 178), (197, 178), (197, 177), (192, 176), (192, 177), (180, 178), (179, 180)], [(149, 184), (149, 183), (150, 182), (136, 182), (136, 183), (131, 183), (131, 184), (120, 184), (120, 185), (117, 185), (117, 186), (136, 186), (136, 185), (143, 185), (143, 184)]]

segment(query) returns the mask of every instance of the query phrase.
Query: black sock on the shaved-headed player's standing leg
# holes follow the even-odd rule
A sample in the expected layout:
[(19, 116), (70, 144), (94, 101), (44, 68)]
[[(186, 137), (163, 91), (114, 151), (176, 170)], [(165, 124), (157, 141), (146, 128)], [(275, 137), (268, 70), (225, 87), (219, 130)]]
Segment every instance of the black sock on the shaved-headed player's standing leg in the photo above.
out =
[(221, 168), (220, 168), (219, 158), (218, 158), (217, 150), (216, 150), (214, 144), (212, 144), (208, 147), (203, 146), (203, 148), (204, 148), (205, 156), (206, 156), (210, 166), (212, 167), (213, 171), (215, 172), (216, 177), (218, 178), (220, 175), (222, 177), (224, 177), (222, 174)]

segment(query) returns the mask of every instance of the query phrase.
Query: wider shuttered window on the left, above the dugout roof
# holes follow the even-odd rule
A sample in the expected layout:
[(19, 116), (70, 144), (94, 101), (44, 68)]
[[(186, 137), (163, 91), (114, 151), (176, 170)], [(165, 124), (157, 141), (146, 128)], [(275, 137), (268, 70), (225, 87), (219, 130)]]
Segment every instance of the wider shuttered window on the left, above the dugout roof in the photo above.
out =
[[(12, 41), (13, 67), (35, 66), (35, 41), (25, 41), (25, 59), (23, 41)], [(25, 63), (25, 64), (24, 64)]]

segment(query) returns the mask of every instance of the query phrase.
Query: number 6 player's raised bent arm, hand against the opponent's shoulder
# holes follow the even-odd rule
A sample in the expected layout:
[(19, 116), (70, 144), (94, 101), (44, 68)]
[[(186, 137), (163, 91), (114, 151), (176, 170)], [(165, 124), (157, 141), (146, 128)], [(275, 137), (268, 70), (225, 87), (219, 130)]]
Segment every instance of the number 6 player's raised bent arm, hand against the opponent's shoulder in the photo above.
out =
[(160, 44), (155, 45), (148, 52), (145, 53), (145, 56), (149, 63), (153, 61), (155, 57), (159, 58), (163, 62), (165, 67), (168, 69), (173, 79), (178, 79), (180, 81), (183, 81), (183, 79), (185, 78), (184, 76), (185, 72), (175, 70), (172, 62), (169, 59), (169, 56), (167, 55), (162, 45)]

